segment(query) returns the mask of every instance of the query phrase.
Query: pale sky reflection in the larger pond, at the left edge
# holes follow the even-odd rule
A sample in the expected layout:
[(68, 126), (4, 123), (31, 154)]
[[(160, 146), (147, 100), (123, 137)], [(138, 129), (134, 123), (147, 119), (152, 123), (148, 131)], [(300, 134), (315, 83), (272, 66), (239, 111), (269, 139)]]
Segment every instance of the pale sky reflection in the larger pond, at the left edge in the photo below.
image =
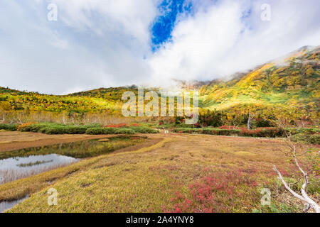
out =
[[(63, 155), (31, 155), (29, 157), (10, 157), (4, 160), (0, 160), (0, 170), (43, 170), (43, 167), (50, 168), (57, 165), (66, 165), (76, 162), (77, 159), (73, 157), (67, 157)], [(28, 164), (35, 162), (44, 162), (31, 166), (19, 166), (21, 164)]]

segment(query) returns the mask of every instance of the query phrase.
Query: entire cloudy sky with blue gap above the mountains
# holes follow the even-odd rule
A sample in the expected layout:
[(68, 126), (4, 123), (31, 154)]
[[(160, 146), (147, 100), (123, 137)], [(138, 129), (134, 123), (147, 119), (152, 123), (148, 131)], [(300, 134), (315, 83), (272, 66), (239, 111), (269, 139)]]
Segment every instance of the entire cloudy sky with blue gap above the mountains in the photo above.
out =
[(319, 11), (319, 0), (1, 0), (0, 86), (68, 94), (228, 77), (320, 45)]

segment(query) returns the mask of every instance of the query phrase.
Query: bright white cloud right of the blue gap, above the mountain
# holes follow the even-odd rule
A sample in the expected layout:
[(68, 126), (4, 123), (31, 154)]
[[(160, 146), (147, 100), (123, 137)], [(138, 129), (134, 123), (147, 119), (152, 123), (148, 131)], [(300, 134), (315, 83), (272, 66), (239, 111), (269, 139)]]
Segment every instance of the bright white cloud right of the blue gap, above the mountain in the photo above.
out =
[[(271, 21), (261, 21), (265, 1), (220, 1), (177, 24), (173, 42), (149, 60), (152, 79), (215, 79), (244, 71), (303, 45), (319, 45), (316, 1), (267, 1)], [(251, 8), (251, 15), (242, 13)]]

